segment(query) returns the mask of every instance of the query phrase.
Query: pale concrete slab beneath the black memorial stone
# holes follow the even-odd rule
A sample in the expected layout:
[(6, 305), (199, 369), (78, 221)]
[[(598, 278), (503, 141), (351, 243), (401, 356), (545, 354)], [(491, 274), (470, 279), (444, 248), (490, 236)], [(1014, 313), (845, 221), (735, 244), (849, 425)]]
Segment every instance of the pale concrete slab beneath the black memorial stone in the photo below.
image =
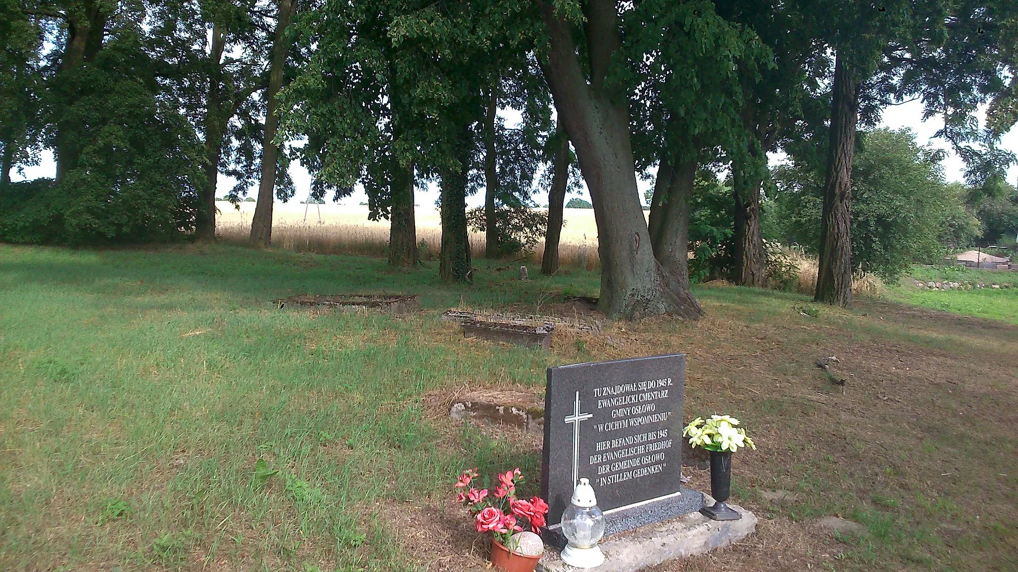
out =
[[(714, 499), (704, 495), (704, 504)], [(739, 520), (711, 520), (698, 512), (672, 520), (642, 526), (615, 534), (601, 542), (605, 563), (589, 572), (635, 572), (676, 558), (688, 558), (740, 540), (756, 529), (756, 516), (746, 509), (729, 504), (742, 515)], [(578, 572), (562, 562), (559, 551), (548, 547), (538, 564), (538, 572)]]

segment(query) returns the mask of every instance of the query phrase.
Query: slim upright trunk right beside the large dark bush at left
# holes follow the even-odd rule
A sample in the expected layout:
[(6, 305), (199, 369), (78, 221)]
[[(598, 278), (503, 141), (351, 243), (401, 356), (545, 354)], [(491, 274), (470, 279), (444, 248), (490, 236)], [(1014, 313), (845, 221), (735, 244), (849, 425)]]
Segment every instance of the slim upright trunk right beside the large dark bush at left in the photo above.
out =
[(219, 180), (219, 158), (223, 152), (222, 61), (226, 35), (219, 24), (212, 27), (209, 62), (209, 94), (205, 109), (205, 188), (195, 221), (194, 234), (200, 240), (216, 239), (216, 184)]

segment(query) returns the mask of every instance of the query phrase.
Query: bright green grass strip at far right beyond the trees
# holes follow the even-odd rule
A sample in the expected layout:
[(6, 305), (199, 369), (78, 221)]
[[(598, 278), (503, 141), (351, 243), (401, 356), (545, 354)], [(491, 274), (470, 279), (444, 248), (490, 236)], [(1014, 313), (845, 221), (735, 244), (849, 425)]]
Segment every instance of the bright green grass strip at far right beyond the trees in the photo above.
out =
[[(912, 278), (922, 282), (983, 282), (986, 287), (924, 290), (915, 287)], [(993, 284), (1006, 284), (1008, 288), (994, 289), (991, 287)], [(888, 295), (904, 303), (1018, 324), (1018, 272), (915, 267), (910, 277), (888, 289)]]

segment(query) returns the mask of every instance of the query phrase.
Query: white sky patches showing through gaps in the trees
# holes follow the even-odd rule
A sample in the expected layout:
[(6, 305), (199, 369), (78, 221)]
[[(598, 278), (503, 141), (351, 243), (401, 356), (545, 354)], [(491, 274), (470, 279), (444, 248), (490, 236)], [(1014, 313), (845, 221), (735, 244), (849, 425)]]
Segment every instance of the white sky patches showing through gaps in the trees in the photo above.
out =
[[(518, 114), (508, 115), (506, 116), (506, 120), (509, 123), (518, 121)], [(915, 131), (920, 145), (928, 145), (945, 150), (947, 152), (947, 159), (944, 161), (944, 171), (948, 181), (964, 180), (964, 164), (961, 159), (953, 151), (951, 151), (950, 146), (946, 141), (939, 138), (930, 138), (934, 133), (943, 127), (943, 121), (937, 118), (928, 121), (922, 121), (922, 103), (919, 101), (889, 107), (884, 111), (882, 121), (882, 126), (892, 129), (909, 127)], [(1001, 147), (1007, 151), (1018, 154), (1018, 127), (1012, 128), (1010, 132), (1004, 135), (1004, 138), (1001, 141)], [(772, 160), (780, 160), (780, 156), (774, 156), (772, 157)], [(22, 180), (24, 178), (34, 179), (38, 177), (53, 177), (56, 173), (56, 165), (53, 162), (53, 154), (50, 152), (44, 153), (41, 165), (27, 167), (24, 171), (24, 177), (19, 176), (17, 173), (11, 173), (11, 178), (13, 180)], [(290, 166), (290, 176), (293, 177), (293, 182), (297, 189), (296, 195), (291, 201), (299, 202), (305, 199), (310, 188), (310, 177), (307, 174), (307, 170), (297, 164), (297, 162), (294, 162)], [(1018, 166), (1011, 167), (1008, 172), (1007, 180), (1011, 184), (1018, 185)], [(233, 186), (233, 184), (234, 181), (231, 178), (221, 175), (219, 177), (219, 191), (217, 192), (217, 195), (222, 196), (225, 194), (226, 191)], [(640, 181), (640, 190), (643, 190), (651, 184), (652, 181)], [(256, 185), (254, 188), (248, 192), (249, 195), (256, 195), (257, 193), (258, 185)], [(587, 195), (585, 188), (576, 196), (589, 201), (589, 196)], [(534, 198), (539, 205), (546, 205), (548, 202), (547, 197), (535, 196)], [(417, 188), (415, 199), (417, 205), (423, 206), (427, 204), (434, 204), (437, 199), (438, 189), (436, 188), (436, 185)], [(358, 205), (359, 203), (366, 202), (367, 197), (358, 187), (352, 195), (340, 201), (340, 205)], [(466, 198), (468, 207), (478, 207), (483, 205), (485, 199), (482, 193), (476, 193)]]

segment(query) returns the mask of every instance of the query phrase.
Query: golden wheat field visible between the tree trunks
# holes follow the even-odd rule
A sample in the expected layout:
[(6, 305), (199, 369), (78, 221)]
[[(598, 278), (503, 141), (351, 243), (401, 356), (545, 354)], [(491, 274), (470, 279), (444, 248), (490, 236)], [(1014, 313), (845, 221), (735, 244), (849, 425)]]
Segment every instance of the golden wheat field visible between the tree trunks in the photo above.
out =
[[(241, 203), (236, 209), (227, 202), (217, 202), (220, 214), (216, 233), (228, 242), (243, 242), (250, 232), (254, 203)], [(427, 244), (427, 256), (437, 256), (442, 243), (439, 212), (434, 207), (416, 209), (417, 240)], [(598, 226), (592, 209), (566, 209), (565, 224), (559, 244), (559, 262), (593, 270), (598, 259)], [(322, 254), (356, 253), (384, 255), (389, 243), (389, 221), (367, 219), (367, 207), (346, 205), (276, 204), (272, 217), (272, 241), (298, 252)], [(485, 251), (485, 236), (470, 233), (473, 255)], [(540, 264), (545, 245), (539, 242), (533, 251), (522, 255)]]

